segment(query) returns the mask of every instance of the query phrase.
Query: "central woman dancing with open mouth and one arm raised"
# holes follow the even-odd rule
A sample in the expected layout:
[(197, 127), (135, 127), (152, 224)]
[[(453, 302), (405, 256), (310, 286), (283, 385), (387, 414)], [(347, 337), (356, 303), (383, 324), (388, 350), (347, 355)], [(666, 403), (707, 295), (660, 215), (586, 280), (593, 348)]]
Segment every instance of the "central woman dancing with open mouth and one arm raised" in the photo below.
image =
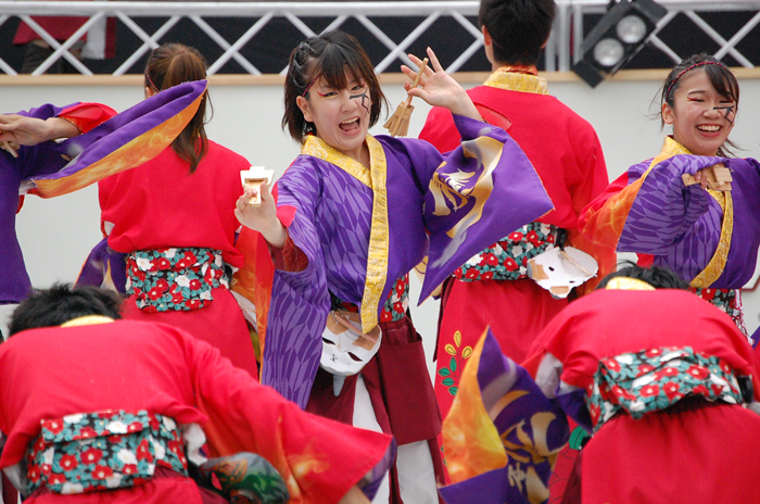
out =
[[(441, 414), (407, 312), (408, 272), (427, 254), (425, 299), (483, 247), (552, 209), (520, 148), (480, 122), (428, 55), (432, 68), (408, 93), (451, 110), (463, 146), (442, 155), (421, 140), (368, 135), (385, 101), (378, 77), (356, 39), (326, 33), (292, 52), (286, 77), (282, 125), (301, 155), (271, 194), (262, 186), (261, 205), (249, 204), (257, 192), (249, 189), (237, 209), (275, 251), (262, 381), (307, 411), (393, 433), (398, 457), (384, 494), (392, 503), (439, 502), (442, 469)], [(325, 331), (337, 319), (355, 322), (353, 361), (380, 328), (377, 354), (353, 376), (319, 368), (322, 344), (340, 358)], [(375, 502), (383, 500), (381, 491)]]

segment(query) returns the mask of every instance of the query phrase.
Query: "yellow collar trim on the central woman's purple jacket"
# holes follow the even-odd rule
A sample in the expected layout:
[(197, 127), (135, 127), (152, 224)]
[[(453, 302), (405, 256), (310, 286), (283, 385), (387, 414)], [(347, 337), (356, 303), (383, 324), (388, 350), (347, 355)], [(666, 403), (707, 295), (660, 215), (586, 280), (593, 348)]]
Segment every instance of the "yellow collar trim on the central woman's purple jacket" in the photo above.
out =
[(379, 141), (367, 135), (369, 169), (362, 163), (328, 146), (321, 138), (306, 137), (302, 154), (332, 163), (372, 190), (372, 217), (367, 254), (367, 278), (362, 295), (362, 331), (366, 335), (378, 325), (380, 298), (388, 279), (390, 230), (388, 224), (388, 190), (385, 151)]

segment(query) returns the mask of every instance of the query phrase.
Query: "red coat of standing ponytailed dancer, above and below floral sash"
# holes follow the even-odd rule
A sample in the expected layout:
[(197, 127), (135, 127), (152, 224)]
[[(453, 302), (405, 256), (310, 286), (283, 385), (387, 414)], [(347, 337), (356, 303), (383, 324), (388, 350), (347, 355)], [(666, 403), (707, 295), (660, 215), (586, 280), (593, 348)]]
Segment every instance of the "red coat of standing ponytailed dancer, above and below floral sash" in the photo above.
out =
[[(240, 172), (250, 163), (208, 141), (208, 151), (190, 174), (189, 164), (172, 148), (129, 172), (99, 182), (101, 220), (109, 245), (129, 253), (170, 247), (220, 250), (225, 263), (243, 265), (236, 248), (235, 203), (242, 194)], [(213, 290), (214, 301), (200, 310), (149, 313), (135, 297), (124, 304), (125, 318), (180, 327), (210, 342), (236, 366), (257, 376), (251, 335), (230, 291)]]

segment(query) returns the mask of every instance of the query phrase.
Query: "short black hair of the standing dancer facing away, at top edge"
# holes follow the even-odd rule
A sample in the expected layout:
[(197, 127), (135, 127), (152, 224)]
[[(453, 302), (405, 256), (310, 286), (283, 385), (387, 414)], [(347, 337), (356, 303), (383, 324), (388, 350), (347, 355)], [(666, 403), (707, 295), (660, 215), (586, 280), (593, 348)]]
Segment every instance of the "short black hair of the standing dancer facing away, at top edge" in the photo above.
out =
[(493, 40), (494, 60), (535, 65), (552, 33), (554, 0), (482, 0), (478, 21)]

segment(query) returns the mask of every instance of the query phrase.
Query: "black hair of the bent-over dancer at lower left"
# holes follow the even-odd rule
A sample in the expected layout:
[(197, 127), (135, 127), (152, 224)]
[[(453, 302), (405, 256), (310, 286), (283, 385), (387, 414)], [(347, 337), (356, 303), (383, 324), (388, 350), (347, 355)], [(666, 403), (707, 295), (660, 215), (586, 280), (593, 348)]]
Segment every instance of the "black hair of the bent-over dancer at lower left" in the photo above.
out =
[(103, 315), (122, 318), (122, 298), (114, 291), (97, 287), (72, 289), (56, 284), (50, 289), (35, 290), (16, 306), (9, 325), (9, 337), (27, 329), (56, 327), (74, 318)]

